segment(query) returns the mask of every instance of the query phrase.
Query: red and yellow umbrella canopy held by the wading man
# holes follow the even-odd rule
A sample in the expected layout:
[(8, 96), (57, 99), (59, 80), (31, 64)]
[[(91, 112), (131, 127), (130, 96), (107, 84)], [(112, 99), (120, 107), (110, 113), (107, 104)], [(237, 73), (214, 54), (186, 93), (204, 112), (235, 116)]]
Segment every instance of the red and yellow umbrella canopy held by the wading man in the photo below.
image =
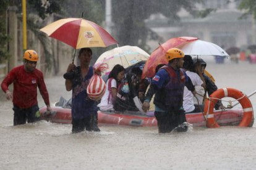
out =
[(65, 18), (41, 28), (49, 37), (65, 42), (74, 49), (107, 47), (117, 44), (104, 28), (83, 18)]

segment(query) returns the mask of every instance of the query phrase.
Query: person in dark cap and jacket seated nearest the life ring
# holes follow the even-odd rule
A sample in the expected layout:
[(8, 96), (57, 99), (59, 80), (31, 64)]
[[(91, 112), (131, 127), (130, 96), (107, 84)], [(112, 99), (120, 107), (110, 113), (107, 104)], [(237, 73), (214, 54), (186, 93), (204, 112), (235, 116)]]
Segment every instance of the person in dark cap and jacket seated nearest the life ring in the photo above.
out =
[[(213, 92), (215, 92), (218, 89), (218, 87), (212, 81), (212, 79), (205, 73), (205, 68), (207, 67), (207, 63), (203, 59), (200, 59), (198, 57), (194, 57), (193, 62), (195, 65), (194, 67), (200, 67), (200, 72), (203, 74), (203, 78), (205, 79), (206, 89), (205, 89), (204, 98), (206, 97), (207, 94), (208, 96), (210, 96)], [(218, 102), (215, 105), (215, 110), (220, 110), (220, 109), (224, 110), (225, 108), (221, 103), (221, 100), (218, 100)]]

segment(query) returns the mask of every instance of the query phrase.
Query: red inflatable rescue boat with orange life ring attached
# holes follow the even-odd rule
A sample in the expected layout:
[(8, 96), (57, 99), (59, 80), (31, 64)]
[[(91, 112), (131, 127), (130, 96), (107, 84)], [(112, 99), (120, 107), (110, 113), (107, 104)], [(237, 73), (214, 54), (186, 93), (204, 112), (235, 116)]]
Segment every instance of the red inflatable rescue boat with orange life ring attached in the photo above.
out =
[[(214, 110), (217, 100), (224, 97), (232, 97), (241, 103), (242, 108), (231, 108), (226, 110)], [(67, 103), (67, 102), (66, 102)], [(65, 105), (65, 104), (64, 104)], [(40, 108), (41, 119), (53, 123), (71, 123), (71, 108), (65, 106), (51, 107), (51, 114), (46, 114), (46, 106)], [(205, 102), (205, 108), (200, 113), (187, 113), (187, 123), (193, 126), (241, 126), (252, 127), (254, 124), (254, 111), (252, 104), (241, 91), (232, 88), (218, 89), (211, 94), (210, 99)], [(120, 126), (157, 126), (154, 111), (146, 114), (141, 111), (124, 111), (123, 113), (98, 111), (98, 124), (120, 125)]]

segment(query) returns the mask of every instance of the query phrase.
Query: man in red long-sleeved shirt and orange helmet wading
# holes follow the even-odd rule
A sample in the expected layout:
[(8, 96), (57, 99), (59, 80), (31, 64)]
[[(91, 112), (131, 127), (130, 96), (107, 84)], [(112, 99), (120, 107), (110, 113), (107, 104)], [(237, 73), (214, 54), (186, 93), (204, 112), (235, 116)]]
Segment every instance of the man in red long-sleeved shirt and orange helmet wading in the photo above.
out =
[[(2, 91), (6, 93), (6, 99), (14, 104), (14, 126), (33, 123), (40, 119), (37, 102), (37, 87), (45, 101), (47, 111), (51, 111), (49, 94), (46, 89), (43, 73), (36, 69), (38, 54), (33, 50), (27, 50), (23, 55), (23, 65), (13, 68), (1, 83)], [(13, 94), (9, 85), (14, 83)]]

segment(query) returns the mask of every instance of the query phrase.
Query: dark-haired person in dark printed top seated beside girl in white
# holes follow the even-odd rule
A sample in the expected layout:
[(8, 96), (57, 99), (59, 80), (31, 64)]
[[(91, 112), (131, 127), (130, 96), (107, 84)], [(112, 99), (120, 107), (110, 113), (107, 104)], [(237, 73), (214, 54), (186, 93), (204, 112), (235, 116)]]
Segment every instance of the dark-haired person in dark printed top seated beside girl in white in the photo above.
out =
[(139, 94), (139, 84), (141, 81), (142, 70), (139, 67), (134, 67), (127, 71), (126, 78), (123, 79), (122, 87), (117, 92), (114, 110), (117, 112), (123, 111), (139, 111), (134, 102), (134, 97)]

